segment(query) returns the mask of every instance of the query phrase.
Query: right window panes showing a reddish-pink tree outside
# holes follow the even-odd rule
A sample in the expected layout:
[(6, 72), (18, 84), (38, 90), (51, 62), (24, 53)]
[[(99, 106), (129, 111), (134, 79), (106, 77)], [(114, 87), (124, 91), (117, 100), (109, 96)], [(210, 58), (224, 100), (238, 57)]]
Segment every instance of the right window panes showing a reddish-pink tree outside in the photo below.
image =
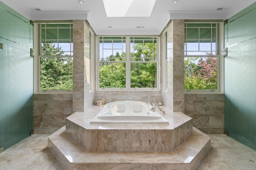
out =
[(218, 91), (218, 23), (185, 23), (185, 91)]

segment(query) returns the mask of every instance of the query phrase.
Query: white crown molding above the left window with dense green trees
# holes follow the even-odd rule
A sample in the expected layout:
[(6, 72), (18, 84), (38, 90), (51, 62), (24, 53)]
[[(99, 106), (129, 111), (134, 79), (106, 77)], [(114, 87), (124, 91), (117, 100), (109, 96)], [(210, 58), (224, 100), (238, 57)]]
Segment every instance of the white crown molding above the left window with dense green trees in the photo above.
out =
[(87, 20), (90, 11), (31, 12), (31, 20)]

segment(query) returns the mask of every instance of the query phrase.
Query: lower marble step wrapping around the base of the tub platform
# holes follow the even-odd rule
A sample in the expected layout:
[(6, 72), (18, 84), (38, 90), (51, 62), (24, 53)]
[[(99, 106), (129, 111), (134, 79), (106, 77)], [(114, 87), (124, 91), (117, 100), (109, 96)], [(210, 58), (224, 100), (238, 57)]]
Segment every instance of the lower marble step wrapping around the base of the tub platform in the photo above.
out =
[(210, 137), (192, 136), (172, 152), (87, 152), (66, 136), (66, 126), (48, 137), (48, 149), (65, 170), (196, 170), (210, 151)]

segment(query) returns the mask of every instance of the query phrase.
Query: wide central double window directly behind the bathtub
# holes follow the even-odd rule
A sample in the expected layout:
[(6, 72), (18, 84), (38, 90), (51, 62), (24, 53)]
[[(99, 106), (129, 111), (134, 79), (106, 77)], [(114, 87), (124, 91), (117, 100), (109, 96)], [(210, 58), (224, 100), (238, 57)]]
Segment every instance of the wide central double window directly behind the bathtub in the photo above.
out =
[(158, 89), (157, 37), (99, 37), (99, 89)]

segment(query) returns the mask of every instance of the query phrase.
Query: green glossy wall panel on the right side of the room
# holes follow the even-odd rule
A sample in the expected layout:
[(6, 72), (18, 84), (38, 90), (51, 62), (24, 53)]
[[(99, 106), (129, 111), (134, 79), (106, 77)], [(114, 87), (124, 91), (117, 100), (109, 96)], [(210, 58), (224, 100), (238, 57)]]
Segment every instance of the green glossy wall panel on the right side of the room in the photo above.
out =
[(256, 150), (256, 3), (225, 25), (224, 126), (228, 136)]

